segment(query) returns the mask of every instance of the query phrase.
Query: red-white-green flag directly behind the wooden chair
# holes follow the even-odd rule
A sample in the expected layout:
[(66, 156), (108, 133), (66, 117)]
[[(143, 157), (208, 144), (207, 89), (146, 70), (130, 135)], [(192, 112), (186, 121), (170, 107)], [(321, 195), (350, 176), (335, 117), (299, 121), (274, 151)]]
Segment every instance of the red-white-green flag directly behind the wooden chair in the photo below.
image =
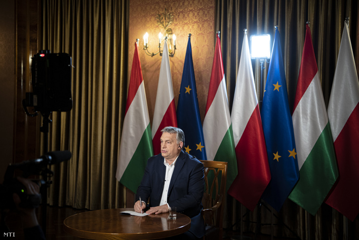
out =
[(221, 43), (219, 36), (216, 36), (217, 41), (203, 120), (203, 136), (206, 143), (207, 160), (228, 162), (226, 189), (228, 191), (237, 176), (238, 170), (223, 70)]

